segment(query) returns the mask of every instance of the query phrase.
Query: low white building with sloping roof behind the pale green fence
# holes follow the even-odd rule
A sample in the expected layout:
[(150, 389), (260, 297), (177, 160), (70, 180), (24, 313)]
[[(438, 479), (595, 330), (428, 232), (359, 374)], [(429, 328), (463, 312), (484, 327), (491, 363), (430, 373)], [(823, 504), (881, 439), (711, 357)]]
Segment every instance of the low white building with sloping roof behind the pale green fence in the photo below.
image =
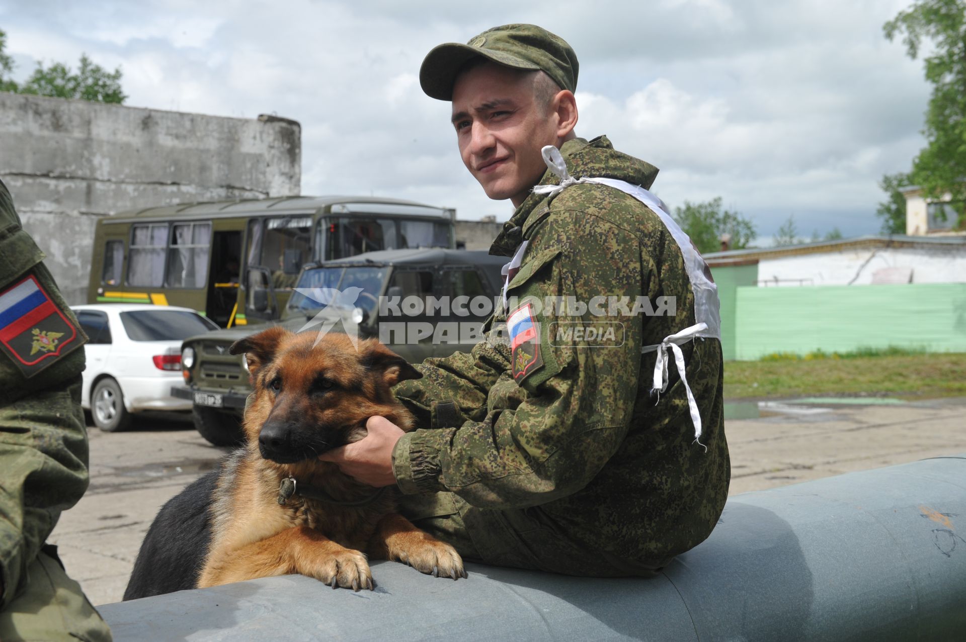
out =
[(843, 238), (704, 257), (722, 265), (757, 260), (759, 287), (966, 283), (962, 235)]

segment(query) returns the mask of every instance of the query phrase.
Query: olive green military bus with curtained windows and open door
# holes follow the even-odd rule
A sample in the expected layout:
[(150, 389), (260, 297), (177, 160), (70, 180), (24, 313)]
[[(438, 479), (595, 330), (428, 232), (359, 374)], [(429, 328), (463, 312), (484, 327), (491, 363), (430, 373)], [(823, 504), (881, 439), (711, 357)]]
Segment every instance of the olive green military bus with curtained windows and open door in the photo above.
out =
[(180, 305), (232, 327), (279, 318), (301, 265), (374, 250), (455, 247), (454, 209), (373, 197), (293, 196), (99, 219), (89, 303)]

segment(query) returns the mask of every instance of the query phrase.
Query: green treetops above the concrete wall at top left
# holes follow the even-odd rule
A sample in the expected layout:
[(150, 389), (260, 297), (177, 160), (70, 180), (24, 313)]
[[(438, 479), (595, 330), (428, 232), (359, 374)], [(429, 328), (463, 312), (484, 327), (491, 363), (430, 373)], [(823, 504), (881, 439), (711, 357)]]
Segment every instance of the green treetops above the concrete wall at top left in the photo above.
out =
[(63, 63), (44, 68), (43, 63), (23, 85), (17, 85), (8, 75), (14, 70), (10, 56), (4, 54), (7, 34), (0, 31), (0, 91), (34, 94), (52, 98), (81, 98), (95, 102), (123, 103), (127, 96), (121, 91), (121, 68), (105, 70), (81, 54), (76, 73)]

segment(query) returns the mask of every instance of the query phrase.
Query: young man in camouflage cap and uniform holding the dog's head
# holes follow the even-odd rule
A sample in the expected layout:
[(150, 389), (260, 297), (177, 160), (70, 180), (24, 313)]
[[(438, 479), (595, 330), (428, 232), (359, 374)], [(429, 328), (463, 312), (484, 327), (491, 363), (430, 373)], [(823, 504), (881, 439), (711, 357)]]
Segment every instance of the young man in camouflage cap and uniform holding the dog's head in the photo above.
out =
[(506, 340), (396, 387), (418, 430), (373, 417), (323, 459), (397, 484), (404, 513), (465, 559), (650, 575), (725, 506), (717, 290), (646, 190), (657, 168), (576, 136), (577, 75), (566, 42), (524, 24), (424, 60), (470, 174), (516, 207), (491, 248), (513, 257), (487, 328)]

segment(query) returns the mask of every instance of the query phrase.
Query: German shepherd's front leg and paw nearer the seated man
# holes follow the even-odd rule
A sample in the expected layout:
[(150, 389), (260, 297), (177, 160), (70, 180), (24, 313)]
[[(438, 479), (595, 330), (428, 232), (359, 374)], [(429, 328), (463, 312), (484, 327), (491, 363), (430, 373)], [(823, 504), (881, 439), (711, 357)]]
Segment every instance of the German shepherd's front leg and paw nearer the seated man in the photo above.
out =
[(369, 542), (369, 554), (374, 559), (409, 564), (416, 571), (436, 577), (456, 579), (467, 576), (463, 558), (455, 548), (416, 528), (409, 519), (398, 514), (380, 520)]

